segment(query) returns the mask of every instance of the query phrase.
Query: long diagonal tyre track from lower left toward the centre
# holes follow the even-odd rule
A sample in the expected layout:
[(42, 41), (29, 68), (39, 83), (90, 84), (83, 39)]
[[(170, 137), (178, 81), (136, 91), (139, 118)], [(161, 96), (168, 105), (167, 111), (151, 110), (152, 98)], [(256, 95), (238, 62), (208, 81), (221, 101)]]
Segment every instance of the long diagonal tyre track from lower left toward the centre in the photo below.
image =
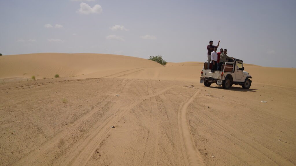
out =
[(170, 86), (164, 88), (154, 94), (141, 97), (140, 99), (131, 102), (125, 108), (120, 109), (117, 113), (110, 116), (106, 121), (102, 123), (93, 133), (91, 133), (82, 144), (75, 149), (75, 151), (61, 164), (61, 165), (86, 165), (90, 160), (91, 155), (95, 152), (96, 147), (104, 140), (110, 131), (110, 126), (115, 125), (129, 110), (134, 108), (136, 105), (142, 101), (149, 99), (151, 97), (162, 94), (163, 92), (173, 88)]

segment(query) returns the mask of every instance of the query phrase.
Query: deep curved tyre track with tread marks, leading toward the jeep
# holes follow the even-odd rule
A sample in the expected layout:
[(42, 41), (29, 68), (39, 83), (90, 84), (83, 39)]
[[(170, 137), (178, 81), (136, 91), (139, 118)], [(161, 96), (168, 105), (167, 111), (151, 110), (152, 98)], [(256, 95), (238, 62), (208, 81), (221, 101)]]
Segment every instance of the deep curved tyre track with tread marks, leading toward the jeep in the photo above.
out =
[(200, 90), (195, 91), (192, 97), (189, 97), (184, 102), (182, 102), (178, 110), (178, 126), (186, 166), (204, 165), (201, 154), (196, 148), (196, 144), (190, 132), (190, 126), (187, 121), (187, 108), (189, 104), (195, 99)]

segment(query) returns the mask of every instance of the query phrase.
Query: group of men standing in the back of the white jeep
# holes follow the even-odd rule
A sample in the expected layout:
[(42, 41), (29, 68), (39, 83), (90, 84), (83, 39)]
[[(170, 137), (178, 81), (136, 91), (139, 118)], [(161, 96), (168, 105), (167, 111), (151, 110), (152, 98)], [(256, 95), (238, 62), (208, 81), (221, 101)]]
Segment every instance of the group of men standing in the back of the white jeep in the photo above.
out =
[(207, 45), (207, 68), (210, 69), (210, 63), (212, 61), (212, 71), (220, 70), (223, 64), (232, 61), (234, 58), (227, 56), (227, 49), (220, 49), (220, 52), (217, 53), (217, 48), (219, 47), (220, 40), (218, 45), (213, 45), (213, 41), (210, 40), (210, 45)]

